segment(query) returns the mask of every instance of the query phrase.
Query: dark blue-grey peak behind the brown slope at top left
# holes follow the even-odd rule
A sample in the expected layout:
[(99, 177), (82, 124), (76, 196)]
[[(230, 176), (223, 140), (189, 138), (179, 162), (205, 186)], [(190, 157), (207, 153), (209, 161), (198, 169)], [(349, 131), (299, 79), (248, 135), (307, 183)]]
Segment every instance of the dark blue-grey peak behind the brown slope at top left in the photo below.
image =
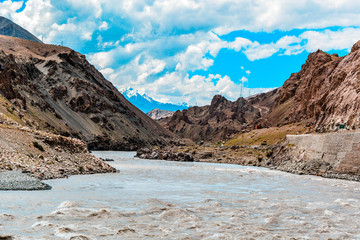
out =
[(29, 33), (11, 20), (0, 16), (0, 34), (10, 37), (22, 38), (33, 42), (41, 42), (37, 37)]

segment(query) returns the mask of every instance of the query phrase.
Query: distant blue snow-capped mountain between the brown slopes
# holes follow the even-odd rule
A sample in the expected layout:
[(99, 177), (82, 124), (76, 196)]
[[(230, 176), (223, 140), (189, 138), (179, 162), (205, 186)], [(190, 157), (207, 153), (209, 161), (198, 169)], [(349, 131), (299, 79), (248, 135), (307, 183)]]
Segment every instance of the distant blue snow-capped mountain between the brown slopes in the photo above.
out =
[(153, 109), (161, 109), (168, 111), (177, 111), (188, 109), (190, 106), (187, 103), (173, 104), (173, 103), (162, 103), (154, 100), (145, 93), (142, 93), (133, 88), (125, 88), (120, 90), (122, 95), (133, 105), (139, 108), (144, 113), (150, 112)]

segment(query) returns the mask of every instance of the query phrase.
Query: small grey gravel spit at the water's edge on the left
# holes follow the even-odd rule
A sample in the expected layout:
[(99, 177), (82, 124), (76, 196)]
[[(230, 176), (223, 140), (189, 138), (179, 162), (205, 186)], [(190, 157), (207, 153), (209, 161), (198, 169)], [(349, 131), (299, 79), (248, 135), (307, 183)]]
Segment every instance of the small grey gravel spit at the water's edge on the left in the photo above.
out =
[(51, 186), (19, 171), (0, 172), (0, 190), (50, 190)]

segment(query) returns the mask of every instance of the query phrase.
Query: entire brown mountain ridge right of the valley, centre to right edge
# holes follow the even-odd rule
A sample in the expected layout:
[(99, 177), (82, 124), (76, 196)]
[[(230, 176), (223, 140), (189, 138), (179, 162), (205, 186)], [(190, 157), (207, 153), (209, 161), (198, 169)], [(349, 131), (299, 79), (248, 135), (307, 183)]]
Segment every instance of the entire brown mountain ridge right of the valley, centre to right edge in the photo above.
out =
[(220, 99), (215, 96), (210, 106), (176, 112), (162, 124), (193, 140), (219, 140), (242, 129), (297, 122), (320, 132), (336, 131), (341, 125), (359, 128), (360, 41), (344, 57), (321, 50), (309, 54), (301, 70), (273, 91), (236, 102)]

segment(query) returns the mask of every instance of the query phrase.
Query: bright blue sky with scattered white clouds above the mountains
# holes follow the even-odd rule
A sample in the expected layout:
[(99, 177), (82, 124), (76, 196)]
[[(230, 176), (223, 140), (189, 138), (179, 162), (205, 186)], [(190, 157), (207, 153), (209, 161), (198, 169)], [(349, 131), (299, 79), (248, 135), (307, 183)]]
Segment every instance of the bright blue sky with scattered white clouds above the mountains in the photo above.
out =
[(281, 86), (310, 52), (360, 40), (350, 0), (0, 0), (0, 15), (87, 56), (119, 89), (208, 104)]

